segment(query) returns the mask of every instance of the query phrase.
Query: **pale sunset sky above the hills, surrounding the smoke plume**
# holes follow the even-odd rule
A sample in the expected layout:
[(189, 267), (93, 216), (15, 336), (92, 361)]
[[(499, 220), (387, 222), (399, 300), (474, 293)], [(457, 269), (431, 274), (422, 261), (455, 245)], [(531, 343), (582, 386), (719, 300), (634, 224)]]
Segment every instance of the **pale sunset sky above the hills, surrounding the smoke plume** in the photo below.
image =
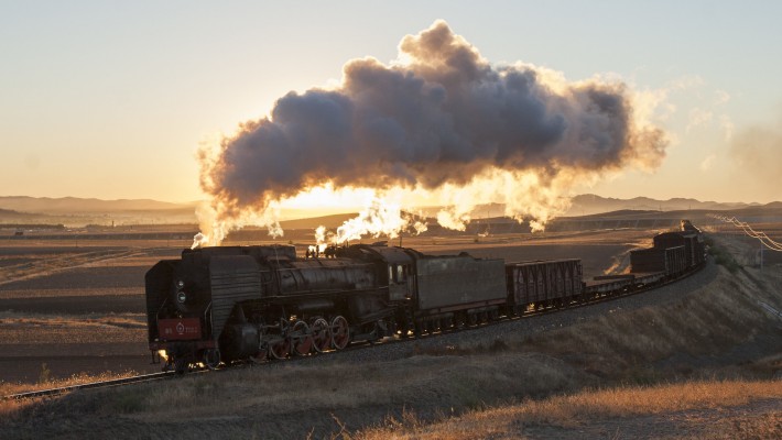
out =
[(662, 166), (578, 193), (782, 200), (780, 16), (779, 1), (2, 0), (0, 196), (203, 199), (199, 145), (443, 19), (491, 63), (664, 96)]

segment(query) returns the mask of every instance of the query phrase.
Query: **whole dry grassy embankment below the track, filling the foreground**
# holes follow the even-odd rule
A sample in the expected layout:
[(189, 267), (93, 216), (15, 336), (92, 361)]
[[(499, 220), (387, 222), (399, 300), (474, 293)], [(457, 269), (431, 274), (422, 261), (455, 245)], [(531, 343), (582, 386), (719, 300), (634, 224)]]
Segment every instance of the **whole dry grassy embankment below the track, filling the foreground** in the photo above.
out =
[(736, 266), (410, 343), (8, 404), (0, 437), (774, 438), (782, 271), (714, 240)]

